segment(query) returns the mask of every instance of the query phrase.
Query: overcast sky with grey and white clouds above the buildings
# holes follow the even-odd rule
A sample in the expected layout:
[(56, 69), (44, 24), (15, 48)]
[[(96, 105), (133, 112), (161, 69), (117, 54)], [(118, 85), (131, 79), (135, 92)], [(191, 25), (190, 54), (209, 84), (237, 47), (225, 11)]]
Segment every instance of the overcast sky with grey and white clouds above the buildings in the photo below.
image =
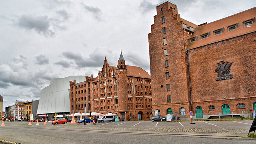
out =
[[(148, 33), (164, 0), (0, 0), (3, 107), (40, 98), (52, 78), (98, 75), (105, 57), (150, 74)], [(172, 0), (180, 17), (210, 23), (255, 0)], [(3, 109), (4, 109), (3, 108)]]

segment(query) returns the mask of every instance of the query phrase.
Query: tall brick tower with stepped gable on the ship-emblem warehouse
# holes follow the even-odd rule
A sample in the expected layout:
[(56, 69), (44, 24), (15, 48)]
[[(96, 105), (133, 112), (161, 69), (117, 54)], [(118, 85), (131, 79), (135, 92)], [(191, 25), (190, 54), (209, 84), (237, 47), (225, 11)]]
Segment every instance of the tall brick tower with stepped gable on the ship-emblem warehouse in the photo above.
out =
[(161, 115), (172, 111), (188, 115), (191, 100), (185, 46), (191, 34), (184, 32), (186, 21), (180, 18), (176, 4), (164, 1), (156, 11), (148, 34), (152, 110)]

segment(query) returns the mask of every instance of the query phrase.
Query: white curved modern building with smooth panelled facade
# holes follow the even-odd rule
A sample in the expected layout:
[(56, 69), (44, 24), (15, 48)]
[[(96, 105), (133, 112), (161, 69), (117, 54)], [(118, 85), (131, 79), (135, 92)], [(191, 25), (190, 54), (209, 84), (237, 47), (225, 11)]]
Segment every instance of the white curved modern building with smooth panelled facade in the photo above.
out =
[(84, 82), (85, 76), (54, 78), (50, 85), (43, 88), (36, 114), (70, 112), (69, 81)]

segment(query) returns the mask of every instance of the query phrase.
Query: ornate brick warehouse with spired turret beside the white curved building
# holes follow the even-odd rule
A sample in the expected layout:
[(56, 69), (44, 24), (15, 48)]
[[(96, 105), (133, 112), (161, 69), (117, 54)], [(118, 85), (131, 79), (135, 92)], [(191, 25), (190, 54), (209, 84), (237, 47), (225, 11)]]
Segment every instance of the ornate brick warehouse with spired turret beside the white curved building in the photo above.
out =
[(109, 66), (105, 57), (96, 78), (70, 81), (70, 113), (109, 112), (126, 120), (150, 120), (152, 115), (150, 75), (140, 67), (125, 64), (122, 52), (117, 66)]

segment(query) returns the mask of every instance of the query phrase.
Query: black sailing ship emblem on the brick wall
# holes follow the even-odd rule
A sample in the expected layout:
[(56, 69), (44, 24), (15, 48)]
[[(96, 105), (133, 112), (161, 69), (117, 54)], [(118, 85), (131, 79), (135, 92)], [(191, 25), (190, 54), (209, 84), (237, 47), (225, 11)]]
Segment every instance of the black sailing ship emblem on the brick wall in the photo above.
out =
[(228, 63), (224, 62), (223, 60), (218, 64), (218, 67), (215, 69), (215, 72), (218, 73), (218, 78), (216, 80), (226, 80), (233, 78), (232, 74), (230, 74), (230, 66), (233, 62)]

